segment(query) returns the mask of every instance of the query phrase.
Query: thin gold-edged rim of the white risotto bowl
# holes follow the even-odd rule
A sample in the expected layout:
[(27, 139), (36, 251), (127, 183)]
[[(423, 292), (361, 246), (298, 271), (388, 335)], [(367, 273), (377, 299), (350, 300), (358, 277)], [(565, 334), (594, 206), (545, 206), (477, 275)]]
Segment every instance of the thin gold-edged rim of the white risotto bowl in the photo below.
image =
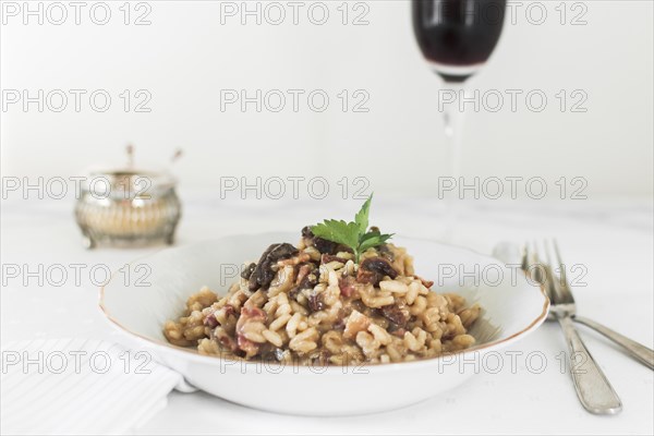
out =
[[(202, 244), (211, 243), (211, 242), (216, 242), (221, 239), (225, 239), (225, 238), (243, 238), (243, 237), (247, 237), (247, 238), (262, 237), (263, 238), (267, 234), (280, 234), (280, 233), (286, 233), (286, 232), (259, 232), (259, 233), (230, 234), (230, 235), (225, 235), (225, 237), (220, 237), (220, 238), (216, 238), (216, 239), (211, 239), (211, 240), (205, 240), (202, 242), (196, 242), (196, 243), (192, 243), (192, 244), (187, 244), (187, 245), (181, 245), (181, 246), (177, 246), (177, 247), (166, 247), (166, 249), (156, 251), (154, 253), (149, 253), (149, 254), (140, 256), (138, 258), (128, 263), (128, 265), (133, 266), (135, 263), (141, 262), (144, 258), (155, 256), (162, 252), (168, 252), (168, 251), (182, 249), (182, 247), (189, 247), (189, 246), (193, 246), (195, 244), (201, 244), (201, 243)], [(440, 242), (440, 241), (431, 240), (431, 239), (419, 239), (419, 238), (410, 238), (410, 237), (402, 237), (402, 235), (399, 235), (399, 238), (402, 240), (408, 240), (408, 241), (421, 241), (421, 242), (428, 242), (428, 243), (438, 244), (438, 245), (445, 245), (445, 246), (449, 246), (452, 249), (462, 250), (468, 253), (471, 253), (471, 254), (474, 254), (474, 255), (477, 255), (477, 256), (481, 256), (481, 257), (484, 257), (487, 259), (495, 259), (494, 257), (492, 257), (489, 255), (479, 253), (475, 250), (472, 250), (472, 249), (469, 249), (465, 246), (449, 244), (446, 242)], [(521, 270), (521, 272), (526, 276), (526, 274), (523, 270)], [(99, 295), (98, 295), (99, 296), (98, 307), (99, 307), (100, 312), (102, 313), (104, 317), (106, 318), (106, 320), (113, 328), (118, 329), (122, 334), (129, 335), (130, 337), (132, 337), (138, 341), (145, 342), (145, 344), (147, 344), (149, 347), (154, 346), (156, 349), (158, 349), (162, 352), (173, 352), (175, 355), (178, 355), (180, 358), (190, 359), (191, 361), (195, 361), (198, 363), (209, 364), (210, 366), (223, 365), (225, 362), (239, 362), (240, 365), (252, 366), (253, 368), (255, 368), (257, 366), (261, 367), (262, 364), (266, 364), (266, 365), (278, 365), (279, 367), (290, 366), (290, 367), (293, 367), (294, 371), (295, 371), (295, 368), (299, 368), (299, 371), (301, 371), (301, 372), (310, 372), (310, 373), (314, 373), (314, 372), (312, 372), (312, 370), (315, 370), (316, 367), (320, 367), (322, 370), (324, 368), (323, 373), (325, 373), (325, 372), (332, 372), (332, 371), (342, 372), (342, 368), (349, 367), (349, 366), (365, 367), (366, 370), (375, 368), (375, 371), (396, 371), (396, 370), (401, 370), (401, 368), (410, 368), (410, 367), (417, 368), (420, 366), (431, 366), (435, 363), (438, 363), (446, 356), (460, 356), (460, 355), (464, 355), (464, 354), (472, 354), (472, 353), (480, 352), (480, 351), (488, 351), (487, 349), (493, 349), (493, 348), (499, 349), (505, 346), (508, 346), (511, 342), (517, 341), (519, 338), (532, 332), (538, 326), (541, 326), (541, 324), (543, 324), (543, 322), (547, 317), (547, 314), (549, 311), (549, 305), (550, 305), (549, 298), (547, 296), (547, 293), (545, 291), (545, 287), (544, 287), (544, 284), (541, 284), (537, 288), (540, 290), (541, 296), (543, 296), (543, 308), (542, 308), (541, 314), (536, 318), (532, 319), (531, 323), (529, 323), (529, 325), (526, 327), (524, 327), (521, 330), (513, 332), (512, 335), (510, 335), (506, 338), (502, 338), (502, 339), (481, 343), (479, 346), (473, 346), (473, 347), (464, 349), (464, 350), (459, 350), (459, 351), (455, 351), (455, 352), (450, 352), (450, 353), (444, 353), (444, 354), (440, 354), (440, 355), (437, 355), (434, 358), (425, 358), (425, 359), (419, 359), (419, 360), (410, 361), (410, 362), (393, 362), (393, 363), (365, 363), (364, 362), (364, 363), (358, 364), (358, 365), (300, 365), (300, 364), (296, 364), (295, 362), (291, 362), (290, 364), (279, 364), (277, 362), (265, 362), (264, 363), (263, 361), (259, 361), (259, 360), (247, 361), (245, 359), (240, 359), (240, 358), (234, 359), (234, 358), (223, 358), (223, 356), (216, 356), (216, 355), (205, 355), (205, 354), (201, 354), (197, 351), (197, 349), (174, 346), (169, 342), (164, 342), (160, 340), (152, 339), (140, 332), (131, 330), (130, 328), (123, 326), (113, 316), (111, 316), (111, 314), (109, 313), (109, 310), (105, 305), (106, 288), (109, 284), (111, 284), (111, 282), (114, 280), (114, 278), (118, 275), (119, 275), (118, 270), (111, 272), (109, 280), (107, 280), (106, 283), (100, 286)], [(536, 287), (533, 287), (533, 288), (536, 288)], [(243, 366), (241, 366), (241, 368)], [(385, 370), (382, 370), (382, 368), (385, 368)]]

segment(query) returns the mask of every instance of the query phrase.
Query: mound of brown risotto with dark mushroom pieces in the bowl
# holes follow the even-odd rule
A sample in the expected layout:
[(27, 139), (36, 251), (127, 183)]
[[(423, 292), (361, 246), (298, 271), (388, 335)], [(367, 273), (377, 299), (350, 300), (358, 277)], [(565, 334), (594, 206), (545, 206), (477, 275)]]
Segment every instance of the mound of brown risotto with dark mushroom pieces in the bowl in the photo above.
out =
[(193, 294), (164, 332), (202, 354), (299, 364), (404, 362), (471, 347), (481, 307), (432, 286), (402, 247), (356, 254), (306, 227), (296, 246), (272, 244), (245, 264), (225, 296)]

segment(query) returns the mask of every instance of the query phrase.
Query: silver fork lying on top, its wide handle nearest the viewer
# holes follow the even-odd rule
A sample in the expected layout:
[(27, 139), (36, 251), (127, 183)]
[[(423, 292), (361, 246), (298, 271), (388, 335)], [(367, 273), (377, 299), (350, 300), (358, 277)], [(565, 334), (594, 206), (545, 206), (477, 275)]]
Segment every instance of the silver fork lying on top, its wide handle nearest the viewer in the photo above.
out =
[[(540, 272), (535, 275), (534, 279), (545, 284), (547, 296), (552, 303), (549, 314), (552, 315), (552, 318), (558, 320), (561, 329), (564, 330), (571, 359), (581, 359), (581, 364), (579, 367), (573, 367), (570, 370), (574, 389), (577, 390), (577, 397), (579, 397), (579, 400), (584, 409), (591, 413), (619, 413), (622, 410), (622, 402), (620, 401), (620, 398), (586, 349), (585, 344), (581, 340), (581, 337), (579, 336), (579, 332), (574, 328), (574, 324), (572, 323), (572, 317), (577, 312), (577, 307), (574, 305), (574, 299), (572, 298), (570, 288), (567, 283), (564, 268), (560, 268), (560, 280), (556, 280), (554, 270), (552, 269), (553, 263), (549, 254), (549, 246), (547, 242), (545, 242), (544, 245), (547, 257), (546, 264), (541, 262), (536, 244), (534, 244), (534, 262), (531, 264), (542, 267), (536, 268), (537, 270), (540, 269)], [(557, 255), (557, 263), (559, 266), (562, 266), (556, 241), (554, 241), (554, 245)], [(529, 262), (529, 253), (525, 254), (525, 257)]]

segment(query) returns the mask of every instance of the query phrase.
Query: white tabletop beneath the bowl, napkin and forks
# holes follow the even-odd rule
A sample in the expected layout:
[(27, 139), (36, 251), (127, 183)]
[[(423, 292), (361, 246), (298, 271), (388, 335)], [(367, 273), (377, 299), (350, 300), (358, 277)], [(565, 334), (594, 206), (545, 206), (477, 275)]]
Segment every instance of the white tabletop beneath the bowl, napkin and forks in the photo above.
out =
[[(225, 234), (299, 230), (324, 217), (348, 217), (356, 203), (235, 202), (185, 193), (178, 244)], [(383, 230), (435, 237), (441, 208), (434, 199), (384, 199), (373, 205), (373, 221)], [(1, 215), (2, 264), (45, 268), (53, 264), (106, 264), (118, 268), (157, 249), (85, 251), (70, 201), (7, 201)], [(649, 347), (654, 341), (653, 208), (649, 201), (516, 202), (463, 205), (455, 242), (489, 253), (500, 240), (523, 242), (556, 235), (570, 264), (583, 264), (586, 286), (574, 290), (580, 313)], [(87, 275), (75, 286), (39, 286), (8, 279), (1, 292), (2, 341), (94, 337), (120, 340), (97, 311), (97, 289)], [(653, 373), (628, 359), (605, 339), (584, 330), (593, 356), (622, 399), (616, 416), (594, 416), (579, 404), (557, 355), (565, 350), (557, 325), (545, 324), (511, 347), (498, 374), (481, 371), (467, 384), (439, 398), (392, 412), (351, 417), (300, 417), (243, 408), (211, 396), (172, 392), (169, 405), (136, 434), (427, 434), (427, 433), (654, 433)], [(540, 352), (547, 366), (536, 373)], [(245, 387), (244, 387), (245, 388)], [(311, 386), (299, 401), (311, 401)], [(420, 386), (416, 386), (420, 389)], [(272, 395), (258, 392), (253, 395)], [(349, 392), (343, 386), (343, 395)], [(392, 395), (379, 386), (379, 395)]]

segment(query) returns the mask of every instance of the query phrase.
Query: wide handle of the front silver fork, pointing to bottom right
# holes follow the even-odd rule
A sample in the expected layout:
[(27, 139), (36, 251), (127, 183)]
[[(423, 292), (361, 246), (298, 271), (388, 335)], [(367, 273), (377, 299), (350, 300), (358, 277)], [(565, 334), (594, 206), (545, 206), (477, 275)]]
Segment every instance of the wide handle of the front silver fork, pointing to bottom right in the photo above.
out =
[[(570, 350), (570, 374), (581, 404), (591, 413), (614, 414), (622, 410), (622, 402), (610, 383), (585, 348), (570, 316), (559, 316), (568, 349)], [(572, 358), (580, 356), (581, 364), (573, 365)], [(576, 366), (576, 367), (573, 367)]]

